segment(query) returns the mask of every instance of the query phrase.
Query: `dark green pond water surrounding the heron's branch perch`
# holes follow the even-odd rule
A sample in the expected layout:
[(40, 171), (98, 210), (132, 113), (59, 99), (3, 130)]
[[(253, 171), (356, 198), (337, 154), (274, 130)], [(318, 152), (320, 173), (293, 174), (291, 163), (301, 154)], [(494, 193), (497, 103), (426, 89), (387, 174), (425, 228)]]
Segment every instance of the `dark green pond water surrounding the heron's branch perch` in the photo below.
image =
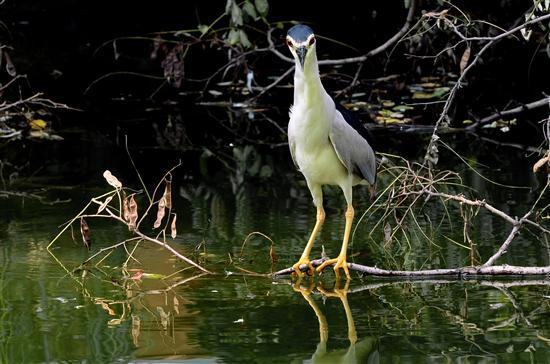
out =
[[(131, 133), (133, 126), (125, 128), (120, 132)], [(155, 129), (151, 130), (155, 135)], [(132, 276), (135, 269), (142, 268), (165, 279), (125, 279), (121, 267), (127, 255), (123, 249), (101, 265), (89, 266), (85, 276), (81, 271), (69, 274), (91, 253), (130, 236), (123, 226), (88, 219), (91, 253), (82, 246), (78, 224), (74, 225), (75, 239), (67, 232), (50, 253), (46, 246), (58, 226), (90, 197), (109, 190), (101, 177), (103, 170), (110, 169), (134, 188), (139, 188), (139, 182), (124, 148), (116, 143), (116, 131), (91, 134), (66, 130), (64, 136), (71, 141), (14, 146), (17, 153), (9, 154), (30, 160), (38, 171), (14, 188), (42, 193), (39, 188), (48, 187), (48, 192), (41, 194), (46, 202), (56, 198), (71, 201), (55, 205), (23, 197), (0, 201), (2, 363), (550, 362), (550, 281), (545, 277), (399, 282), (354, 275), (346, 287), (335, 284), (332, 273), (301, 282), (248, 274), (292, 264), (314, 224), (309, 195), (290, 166), (285, 146), (255, 147), (257, 154), (252, 159), (269, 166), (262, 176), (255, 172), (251, 160), (239, 164), (227, 159), (224, 161), (231, 162), (225, 166), (219, 163), (232, 149), (244, 150), (242, 139), (238, 145), (215, 151), (212, 143), (219, 158), (207, 157), (204, 150), (190, 144), (180, 152), (159, 149), (155, 144), (158, 135), (156, 141), (150, 140), (154, 148), (133, 150), (147, 184), (183, 158), (173, 180), (178, 237), (169, 241), (216, 275), (182, 271), (185, 264), (145, 242), (137, 247), (128, 243), (129, 250), (135, 247), (136, 260), (128, 261), (127, 274)], [(474, 150), (478, 156), (486, 155), (470, 164), (497, 176), (500, 182), (540, 188), (523, 152), (480, 144), (464, 136), (446, 140), (461, 145), (465, 154)], [(444, 154), (445, 158), (462, 172), (465, 184), (511, 215), (521, 215), (536, 198), (529, 190), (490, 184), (452, 155)], [(369, 206), (367, 194), (357, 192), (355, 196), (361, 214)], [(329, 254), (336, 255), (343, 233), (344, 203), (338, 191), (327, 191), (326, 201), (327, 221), (320, 240)], [(139, 203), (143, 206), (145, 201)], [(430, 215), (435, 221), (443, 213), (433, 208)], [(424, 235), (411, 233), (411, 246), (401, 257), (403, 266), (469, 264), (469, 252), (451, 242), (463, 241), (459, 211), (454, 208), (449, 213), (450, 219), (437, 233), (421, 224), (440, 248), (434, 248)], [(383, 266), (385, 258), (371, 248), (383, 238), (380, 231), (371, 233), (375, 223), (369, 219), (359, 225), (351, 253), (358, 262)], [(509, 229), (499, 219), (480, 212), (471, 237), (481, 257), (488, 257)], [(252, 232), (262, 232), (274, 241), (276, 264), (269, 256), (270, 242), (259, 235), (247, 242), (241, 256), (242, 243)], [(548, 265), (547, 245), (541, 244), (537, 234), (522, 233), (502, 262)], [(315, 256), (321, 253), (320, 245), (314, 248)]]

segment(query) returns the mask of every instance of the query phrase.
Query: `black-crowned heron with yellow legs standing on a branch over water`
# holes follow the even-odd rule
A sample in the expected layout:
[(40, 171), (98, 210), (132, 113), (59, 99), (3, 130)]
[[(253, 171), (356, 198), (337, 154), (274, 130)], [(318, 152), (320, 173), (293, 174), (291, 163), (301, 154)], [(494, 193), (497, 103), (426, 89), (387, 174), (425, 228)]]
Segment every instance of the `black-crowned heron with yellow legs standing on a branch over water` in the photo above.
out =
[(317, 208), (317, 221), (302, 256), (293, 268), (302, 274), (300, 266), (309, 266), (309, 255), (323, 222), (323, 185), (340, 186), (347, 202), (346, 227), (338, 258), (325, 261), (317, 267), (321, 272), (334, 264), (339, 277), (343, 269), (349, 279), (347, 267), (348, 240), (353, 222), (352, 187), (357, 184), (374, 184), (376, 158), (367, 142), (366, 129), (325, 91), (319, 77), (313, 30), (306, 25), (295, 25), (286, 37), (295, 60), (294, 105), (290, 110), (288, 142), (294, 164), (306, 178), (307, 186)]

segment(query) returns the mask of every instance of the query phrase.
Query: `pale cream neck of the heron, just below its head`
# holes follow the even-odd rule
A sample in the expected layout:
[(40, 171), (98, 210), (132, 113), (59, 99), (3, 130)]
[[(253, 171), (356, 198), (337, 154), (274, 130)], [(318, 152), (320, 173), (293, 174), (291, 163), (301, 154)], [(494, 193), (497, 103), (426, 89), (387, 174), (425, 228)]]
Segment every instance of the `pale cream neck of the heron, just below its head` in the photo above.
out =
[[(296, 65), (294, 72), (294, 104), (305, 102), (306, 104), (319, 104), (319, 99), (324, 97), (325, 89), (321, 84), (317, 57), (306, 60), (304, 68)], [(306, 106), (311, 106), (306, 105)]]

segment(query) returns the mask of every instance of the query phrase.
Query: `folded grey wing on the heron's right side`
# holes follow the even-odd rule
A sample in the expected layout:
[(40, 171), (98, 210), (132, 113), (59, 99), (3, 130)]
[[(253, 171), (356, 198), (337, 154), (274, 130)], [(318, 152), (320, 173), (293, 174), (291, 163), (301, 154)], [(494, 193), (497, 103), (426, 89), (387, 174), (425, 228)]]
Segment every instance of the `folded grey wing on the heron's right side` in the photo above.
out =
[[(362, 126), (361, 126), (362, 127)], [(367, 139), (357, 132), (339, 110), (334, 113), (330, 141), (340, 161), (370, 184), (376, 181), (376, 157)]]

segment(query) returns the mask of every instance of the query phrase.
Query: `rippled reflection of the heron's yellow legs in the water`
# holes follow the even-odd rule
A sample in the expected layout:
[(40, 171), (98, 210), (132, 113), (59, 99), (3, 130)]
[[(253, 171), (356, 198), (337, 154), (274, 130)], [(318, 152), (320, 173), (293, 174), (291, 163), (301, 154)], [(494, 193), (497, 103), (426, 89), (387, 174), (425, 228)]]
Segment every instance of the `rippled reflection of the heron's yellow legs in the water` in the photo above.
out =
[[(366, 337), (357, 341), (357, 331), (355, 330), (355, 322), (351, 313), (351, 308), (348, 302), (349, 281), (346, 281), (344, 288), (339, 287), (339, 282), (336, 281), (336, 286), (333, 290), (327, 290), (321, 285), (316, 285), (312, 280), (308, 281), (308, 287), (301, 285), (301, 279), (295, 282), (293, 289), (300, 293), (307, 301), (310, 307), (315, 312), (319, 322), (319, 344), (311, 357), (312, 363), (379, 363), (378, 340), (374, 337)], [(338, 298), (342, 303), (346, 314), (348, 326), (349, 347), (347, 349), (337, 349), (328, 352), (328, 322), (323, 314), (323, 311), (317, 305), (317, 302), (312, 297), (313, 293), (318, 293), (326, 298)]]

